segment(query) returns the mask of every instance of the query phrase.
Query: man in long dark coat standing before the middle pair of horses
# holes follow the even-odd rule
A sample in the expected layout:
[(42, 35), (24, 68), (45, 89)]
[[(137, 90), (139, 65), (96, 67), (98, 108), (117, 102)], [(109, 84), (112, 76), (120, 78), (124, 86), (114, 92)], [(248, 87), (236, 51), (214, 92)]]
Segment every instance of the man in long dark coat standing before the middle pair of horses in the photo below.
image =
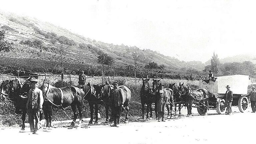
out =
[(157, 113), (158, 113), (158, 121), (161, 121), (161, 117), (162, 117), (162, 121), (164, 120), (164, 109), (165, 109), (165, 104), (167, 101), (167, 97), (166, 97), (166, 93), (164, 90), (164, 84), (159, 85), (159, 89), (157, 91)]

